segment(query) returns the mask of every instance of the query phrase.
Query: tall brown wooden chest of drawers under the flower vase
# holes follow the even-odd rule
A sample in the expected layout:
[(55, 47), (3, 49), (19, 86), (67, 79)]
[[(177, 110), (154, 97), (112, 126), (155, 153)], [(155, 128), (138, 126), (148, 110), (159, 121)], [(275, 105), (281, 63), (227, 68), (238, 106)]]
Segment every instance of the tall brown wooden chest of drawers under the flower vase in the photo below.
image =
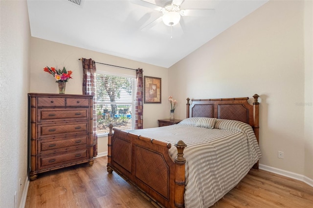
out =
[(89, 95), (29, 93), (29, 179), (80, 163), (93, 164)]

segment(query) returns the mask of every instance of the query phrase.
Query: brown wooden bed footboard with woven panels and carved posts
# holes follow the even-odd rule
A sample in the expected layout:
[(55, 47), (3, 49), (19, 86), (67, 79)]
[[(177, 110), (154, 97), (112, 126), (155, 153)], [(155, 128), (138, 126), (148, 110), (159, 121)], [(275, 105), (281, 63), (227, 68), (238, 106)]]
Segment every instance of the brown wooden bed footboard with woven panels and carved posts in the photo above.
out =
[[(138, 136), (109, 126), (107, 170), (114, 170), (137, 187), (158, 206), (184, 207), (185, 163), (179, 141), (175, 160), (169, 155), (171, 144)], [(114, 134), (112, 133), (114, 130)]]

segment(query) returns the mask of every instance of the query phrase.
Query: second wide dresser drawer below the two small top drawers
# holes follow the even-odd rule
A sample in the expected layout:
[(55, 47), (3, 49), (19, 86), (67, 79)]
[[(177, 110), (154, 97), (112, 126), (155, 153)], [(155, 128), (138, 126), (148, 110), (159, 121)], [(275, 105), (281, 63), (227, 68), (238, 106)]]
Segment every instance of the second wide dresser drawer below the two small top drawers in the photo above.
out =
[(82, 122), (60, 122), (38, 125), (38, 137), (68, 136), (75, 134), (87, 134), (88, 121)]

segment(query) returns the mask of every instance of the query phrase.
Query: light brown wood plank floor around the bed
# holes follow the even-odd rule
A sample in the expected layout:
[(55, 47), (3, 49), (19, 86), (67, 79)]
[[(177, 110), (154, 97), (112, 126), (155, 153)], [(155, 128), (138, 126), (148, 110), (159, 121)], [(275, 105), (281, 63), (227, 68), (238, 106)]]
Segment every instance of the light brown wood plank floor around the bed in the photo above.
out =
[[(154, 208), (116, 173), (107, 157), (39, 174), (28, 188), (25, 208)], [(246, 177), (212, 208), (313, 208), (313, 187), (264, 170)]]

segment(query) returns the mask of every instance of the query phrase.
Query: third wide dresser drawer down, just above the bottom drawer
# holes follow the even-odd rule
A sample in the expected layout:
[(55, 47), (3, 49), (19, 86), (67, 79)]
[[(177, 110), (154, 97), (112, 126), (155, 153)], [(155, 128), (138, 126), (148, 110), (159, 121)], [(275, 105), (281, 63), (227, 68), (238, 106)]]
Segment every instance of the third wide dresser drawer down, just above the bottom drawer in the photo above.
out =
[(38, 154), (48, 154), (57, 151), (79, 148), (81, 145), (86, 147), (88, 136), (80, 137), (59, 137), (38, 140)]

